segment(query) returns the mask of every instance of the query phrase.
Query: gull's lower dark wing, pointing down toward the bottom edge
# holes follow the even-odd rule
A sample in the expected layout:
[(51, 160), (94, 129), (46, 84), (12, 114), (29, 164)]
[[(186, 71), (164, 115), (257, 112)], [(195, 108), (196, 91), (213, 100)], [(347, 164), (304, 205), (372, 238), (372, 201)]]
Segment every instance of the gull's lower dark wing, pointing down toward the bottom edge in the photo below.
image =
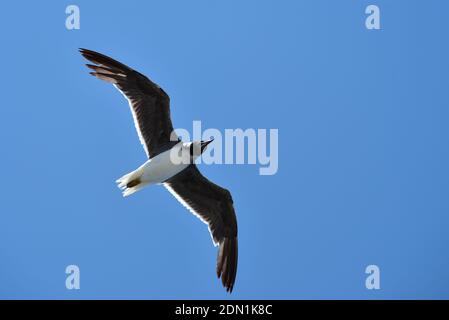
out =
[(237, 274), (237, 218), (231, 193), (206, 179), (192, 164), (164, 183), (187, 209), (208, 224), (215, 245), (219, 245), (217, 275), (232, 292)]

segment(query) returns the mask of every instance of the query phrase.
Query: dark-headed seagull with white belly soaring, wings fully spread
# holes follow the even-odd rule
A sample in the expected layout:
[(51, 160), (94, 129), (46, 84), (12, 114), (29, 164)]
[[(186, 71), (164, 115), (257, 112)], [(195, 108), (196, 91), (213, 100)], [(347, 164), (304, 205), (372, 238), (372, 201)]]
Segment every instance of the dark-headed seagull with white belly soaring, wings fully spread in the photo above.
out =
[(204, 177), (195, 165), (213, 141), (183, 142), (173, 130), (170, 98), (143, 74), (101, 53), (79, 49), (91, 75), (112, 83), (128, 100), (148, 160), (116, 182), (127, 197), (145, 186), (162, 184), (206, 223), (218, 246), (217, 276), (231, 293), (237, 274), (237, 218), (231, 193)]

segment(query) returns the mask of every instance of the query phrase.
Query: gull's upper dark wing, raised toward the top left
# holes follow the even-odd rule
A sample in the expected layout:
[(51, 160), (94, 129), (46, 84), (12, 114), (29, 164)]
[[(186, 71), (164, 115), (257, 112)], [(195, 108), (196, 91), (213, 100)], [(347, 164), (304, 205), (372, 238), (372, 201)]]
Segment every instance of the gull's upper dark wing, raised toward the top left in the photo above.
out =
[(157, 84), (143, 74), (101, 53), (80, 49), (93, 70), (90, 74), (112, 83), (129, 102), (140, 142), (148, 157), (153, 157), (176, 144), (170, 119), (170, 98)]

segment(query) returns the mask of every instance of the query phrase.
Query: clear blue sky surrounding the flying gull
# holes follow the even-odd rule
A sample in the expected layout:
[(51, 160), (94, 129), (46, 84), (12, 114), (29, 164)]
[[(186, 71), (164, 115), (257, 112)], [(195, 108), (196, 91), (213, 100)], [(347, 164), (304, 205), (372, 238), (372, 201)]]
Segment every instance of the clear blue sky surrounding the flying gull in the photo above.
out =
[[(369, 4), (381, 30), (365, 28)], [(0, 298), (449, 298), (447, 1), (2, 9)], [(78, 47), (161, 85), (176, 127), (279, 129), (276, 175), (200, 167), (235, 202), (231, 296), (205, 225), (163, 187), (121, 197), (115, 179), (145, 154)], [(380, 290), (365, 288), (370, 264)]]

